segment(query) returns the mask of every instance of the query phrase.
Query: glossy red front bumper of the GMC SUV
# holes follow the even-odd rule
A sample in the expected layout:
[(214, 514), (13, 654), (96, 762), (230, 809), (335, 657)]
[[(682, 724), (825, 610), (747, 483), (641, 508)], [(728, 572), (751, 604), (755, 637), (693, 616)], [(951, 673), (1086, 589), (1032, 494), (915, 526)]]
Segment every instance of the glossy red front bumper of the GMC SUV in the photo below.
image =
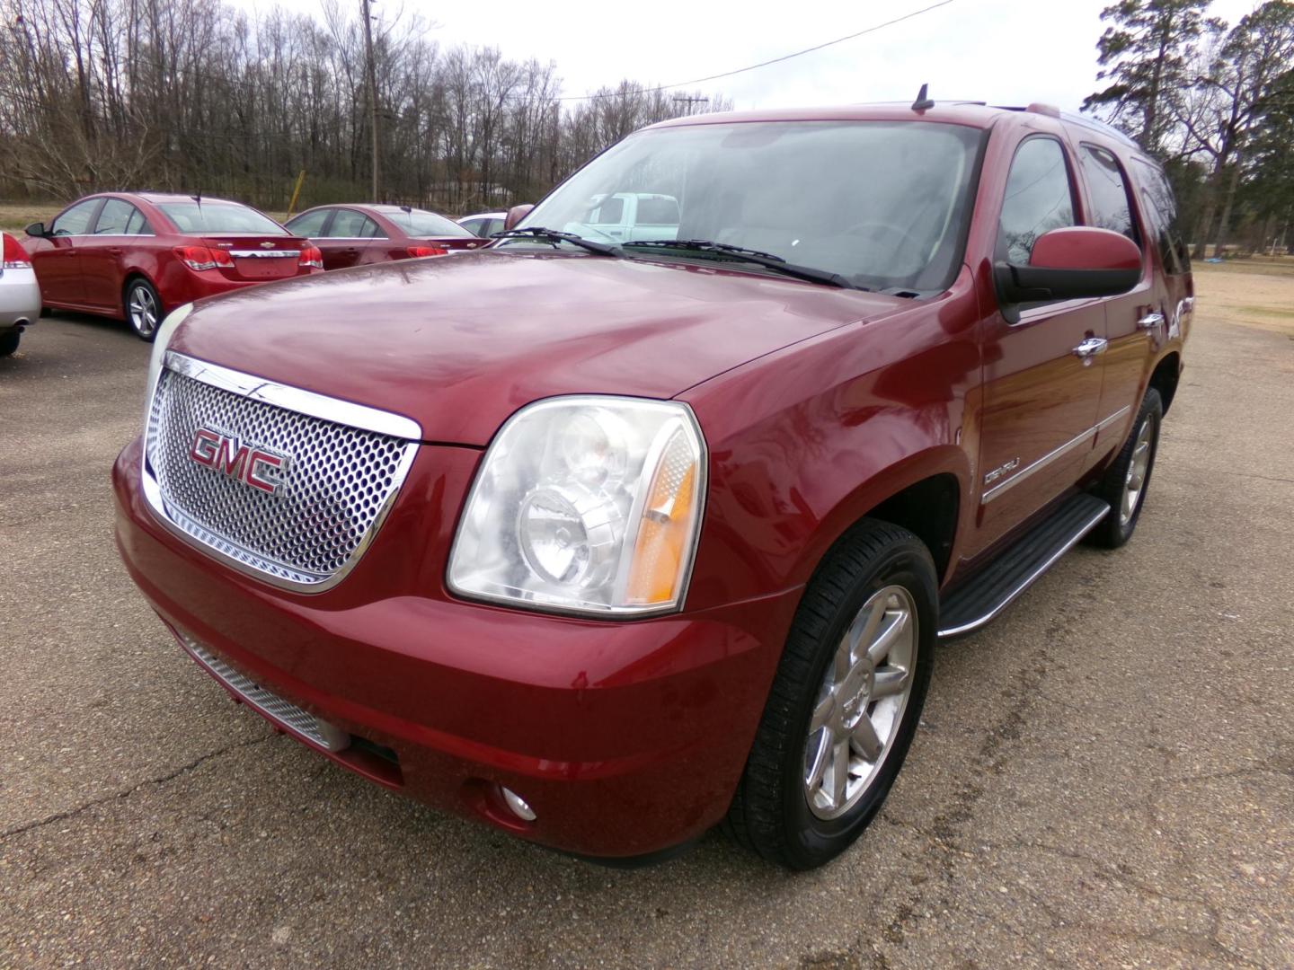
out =
[[(132, 578), (172, 629), (365, 744), (299, 740), (428, 804), (582, 855), (657, 852), (723, 816), (800, 590), (637, 622), (454, 600), (437, 550), (479, 453), (422, 446), (347, 579), (285, 592), (155, 520), (140, 446), (113, 472)], [(383, 749), (397, 766), (374, 755)], [(534, 821), (510, 812), (498, 786)]]

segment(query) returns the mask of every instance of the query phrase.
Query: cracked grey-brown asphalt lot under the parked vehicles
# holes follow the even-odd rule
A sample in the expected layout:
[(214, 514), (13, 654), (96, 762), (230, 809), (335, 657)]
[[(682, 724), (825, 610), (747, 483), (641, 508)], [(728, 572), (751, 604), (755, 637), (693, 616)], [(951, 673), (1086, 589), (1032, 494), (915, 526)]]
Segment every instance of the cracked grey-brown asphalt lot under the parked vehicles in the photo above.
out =
[(584, 864), (232, 705), (110, 538), (148, 348), (41, 321), (0, 361), (0, 966), (1294, 966), (1294, 277), (1197, 281), (1137, 537), (942, 648), (885, 811), (795, 877)]

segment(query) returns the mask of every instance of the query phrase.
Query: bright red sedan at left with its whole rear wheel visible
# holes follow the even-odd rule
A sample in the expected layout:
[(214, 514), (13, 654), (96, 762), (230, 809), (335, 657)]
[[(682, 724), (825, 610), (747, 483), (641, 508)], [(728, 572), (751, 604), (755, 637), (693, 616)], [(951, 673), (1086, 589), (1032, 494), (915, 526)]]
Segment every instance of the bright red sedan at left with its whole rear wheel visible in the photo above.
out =
[(324, 269), (320, 251), (238, 202), (105, 193), (23, 241), (45, 307), (126, 319), (144, 340), (176, 307)]

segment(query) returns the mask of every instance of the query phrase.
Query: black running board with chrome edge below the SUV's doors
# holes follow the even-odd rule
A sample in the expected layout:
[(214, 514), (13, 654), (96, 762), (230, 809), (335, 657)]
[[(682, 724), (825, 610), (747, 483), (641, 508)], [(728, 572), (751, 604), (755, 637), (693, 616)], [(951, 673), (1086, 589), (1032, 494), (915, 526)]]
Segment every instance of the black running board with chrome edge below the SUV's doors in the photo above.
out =
[(983, 570), (939, 603), (939, 638), (974, 632), (996, 617), (1100, 523), (1110, 507), (1095, 495), (1065, 499)]

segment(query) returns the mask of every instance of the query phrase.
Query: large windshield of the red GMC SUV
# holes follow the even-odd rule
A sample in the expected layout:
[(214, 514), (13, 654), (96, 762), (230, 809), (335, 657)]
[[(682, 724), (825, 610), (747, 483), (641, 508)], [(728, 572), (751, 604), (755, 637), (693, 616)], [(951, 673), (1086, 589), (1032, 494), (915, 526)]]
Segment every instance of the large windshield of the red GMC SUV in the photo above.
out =
[(708, 239), (871, 290), (939, 291), (961, 257), (981, 136), (927, 122), (660, 128), (595, 158), (521, 225), (612, 243)]

